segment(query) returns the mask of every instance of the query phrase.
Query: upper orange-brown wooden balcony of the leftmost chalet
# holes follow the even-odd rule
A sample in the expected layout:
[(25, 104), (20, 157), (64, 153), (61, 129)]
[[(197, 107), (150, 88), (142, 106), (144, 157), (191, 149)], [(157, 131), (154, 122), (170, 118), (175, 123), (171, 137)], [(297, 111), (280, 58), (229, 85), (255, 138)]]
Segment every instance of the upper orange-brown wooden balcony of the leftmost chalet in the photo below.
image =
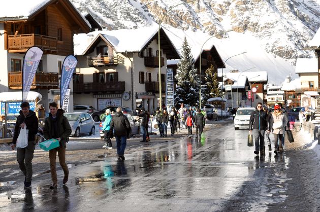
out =
[(40, 34), (18, 34), (8, 36), (8, 51), (10, 53), (26, 52), (28, 48), (37, 46), (43, 51), (57, 51), (57, 38)]

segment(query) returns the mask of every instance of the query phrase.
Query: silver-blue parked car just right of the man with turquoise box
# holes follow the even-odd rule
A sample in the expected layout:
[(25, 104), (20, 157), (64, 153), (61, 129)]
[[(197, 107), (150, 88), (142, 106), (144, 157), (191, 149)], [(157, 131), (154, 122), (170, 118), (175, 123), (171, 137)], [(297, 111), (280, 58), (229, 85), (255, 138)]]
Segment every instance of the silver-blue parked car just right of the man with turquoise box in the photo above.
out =
[(80, 134), (89, 133), (89, 135), (94, 134), (95, 127), (92, 116), (88, 113), (80, 112), (68, 112), (63, 114), (67, 117), (74, 137), (79, 137)]

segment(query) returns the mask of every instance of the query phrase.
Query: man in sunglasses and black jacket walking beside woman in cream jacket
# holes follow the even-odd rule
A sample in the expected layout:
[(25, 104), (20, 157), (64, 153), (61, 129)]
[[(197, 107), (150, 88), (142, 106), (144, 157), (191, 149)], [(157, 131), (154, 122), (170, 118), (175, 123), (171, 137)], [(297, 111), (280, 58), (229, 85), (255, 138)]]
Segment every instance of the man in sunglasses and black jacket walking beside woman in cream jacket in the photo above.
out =
[(253, 138), (254, 138), (254, 146), (255, 151), (254, 154), (260, 156), (265, 156), (265, 130), (269, 131), (269, 124), (268, 124), (268, 115), (266, 112), (262, 110), (262, 103), (258, 102), (257, 110), (253, 111), (250, 116), (249, 122), (249, 133), (251, 134), (253, 131)]

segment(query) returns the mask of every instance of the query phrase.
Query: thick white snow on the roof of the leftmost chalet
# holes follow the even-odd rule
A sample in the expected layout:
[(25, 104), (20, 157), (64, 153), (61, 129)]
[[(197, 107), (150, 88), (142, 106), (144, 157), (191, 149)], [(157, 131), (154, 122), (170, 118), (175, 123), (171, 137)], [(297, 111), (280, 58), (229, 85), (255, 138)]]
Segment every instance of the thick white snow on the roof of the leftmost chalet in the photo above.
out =
[[(67, 0), (69, 1), (69, 0)], [(3, 1), (2, 7), (3, 8), (12, 8), (8, 10), (1, 10), (0, 13), (0, 21), (6, 20), (27, 20), (30, 16), (35, 15), (39, 10), (46, 7), (50, 2), (53, 0), (32, 0), (32, 1), (25, 1), (25, 0), (10, 0), (10, 1)], [(69, 1), (70, 5), (74, 8), (75, 11), (81, 16), (84, 22), (91, 28), (90, 23), (84, 16), (80, 13), (80, 11), (74, 6), (74, 4)], [(13, 7), (15, 6), (15, 7)]]

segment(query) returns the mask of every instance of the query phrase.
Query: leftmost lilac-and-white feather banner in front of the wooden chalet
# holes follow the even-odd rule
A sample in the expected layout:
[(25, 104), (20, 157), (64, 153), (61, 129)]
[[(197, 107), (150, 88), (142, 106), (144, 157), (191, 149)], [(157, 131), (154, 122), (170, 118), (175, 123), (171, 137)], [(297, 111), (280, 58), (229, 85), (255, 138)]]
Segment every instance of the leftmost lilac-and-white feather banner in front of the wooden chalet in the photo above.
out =
[(22, 101), (25, 101), (34, 81), (43, 51), (38, 47), (31, 47), (24, 55), (22, 67)]

